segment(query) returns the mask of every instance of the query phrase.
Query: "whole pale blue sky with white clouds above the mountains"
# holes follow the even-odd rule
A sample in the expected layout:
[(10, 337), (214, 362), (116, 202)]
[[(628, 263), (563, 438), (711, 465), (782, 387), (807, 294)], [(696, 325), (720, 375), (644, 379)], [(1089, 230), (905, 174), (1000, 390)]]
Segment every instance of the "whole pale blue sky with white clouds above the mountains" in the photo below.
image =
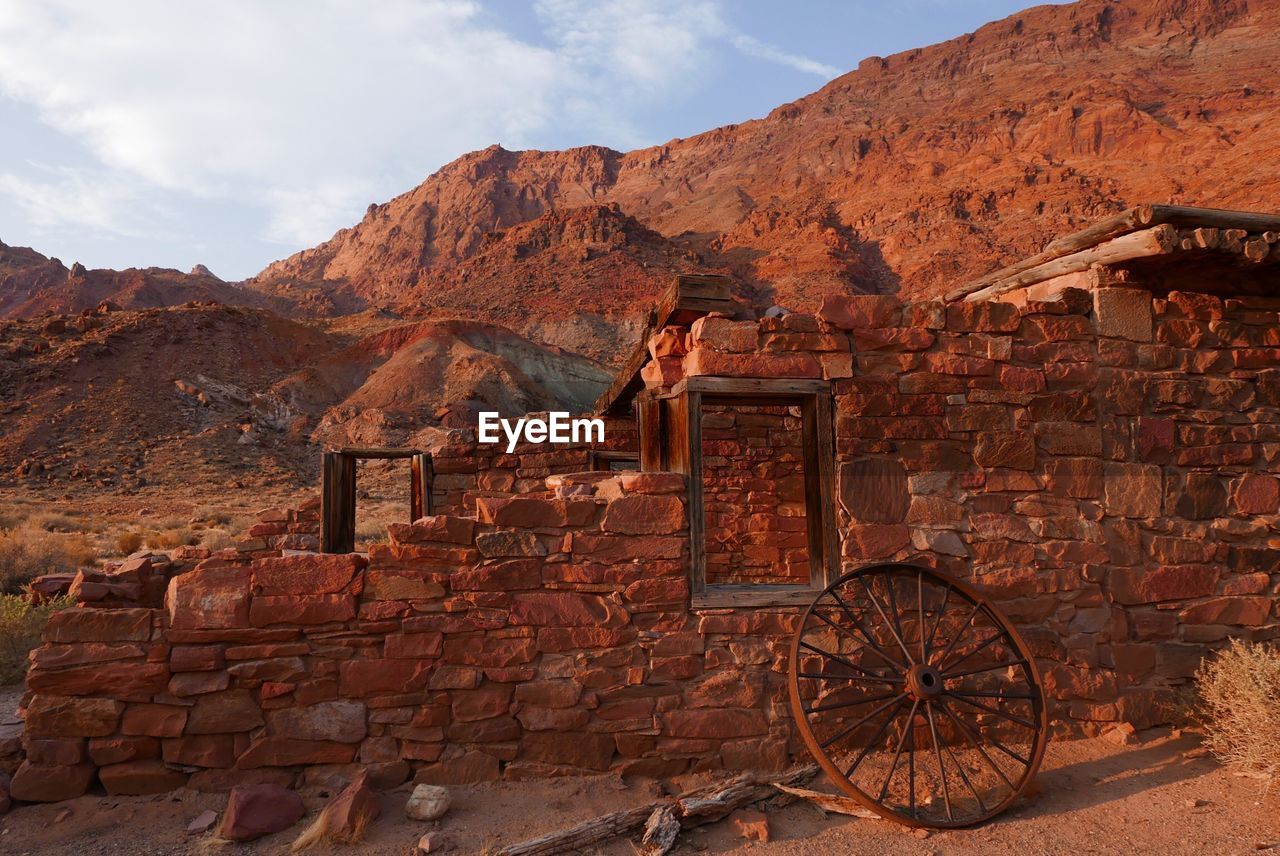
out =
[(0, 242), (227, 280), (460, 155), (759, 118), (1028, 0), (0, 0)]

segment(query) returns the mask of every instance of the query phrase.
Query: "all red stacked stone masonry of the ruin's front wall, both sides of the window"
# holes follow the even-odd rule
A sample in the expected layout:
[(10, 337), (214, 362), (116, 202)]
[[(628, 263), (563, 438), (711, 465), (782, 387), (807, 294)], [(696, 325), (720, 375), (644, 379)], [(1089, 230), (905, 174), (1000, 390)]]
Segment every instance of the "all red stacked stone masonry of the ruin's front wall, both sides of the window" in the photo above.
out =
[[(682, 347), (645, 376), (831, 381), (844, 567), (972, 581), (1032, 645), (1059, 734), (1144, 727), (1228, 638), (1280, 636), (1280, 301), (1112, 292), (707, 317), (664, 330)], [(462, 452), (477, 490), (536, 470), (485, 482), (512, 467)], [(544, 486), (394, 526), (367, 560), (232, 551), (175, 576), (165, 609), (61, 613), (33, 655), (14, 796), (335, 764), (669, 775), (801, 751), (799, 610), (690, 608), (684, 477)]]

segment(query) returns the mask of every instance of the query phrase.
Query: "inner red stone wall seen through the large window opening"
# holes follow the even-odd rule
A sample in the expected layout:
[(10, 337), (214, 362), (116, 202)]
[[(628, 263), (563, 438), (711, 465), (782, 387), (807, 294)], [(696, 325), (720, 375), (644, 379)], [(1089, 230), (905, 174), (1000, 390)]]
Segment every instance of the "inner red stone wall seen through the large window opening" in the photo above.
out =
[(809, 582), (799, 407), (703, 406), (707, 582)]

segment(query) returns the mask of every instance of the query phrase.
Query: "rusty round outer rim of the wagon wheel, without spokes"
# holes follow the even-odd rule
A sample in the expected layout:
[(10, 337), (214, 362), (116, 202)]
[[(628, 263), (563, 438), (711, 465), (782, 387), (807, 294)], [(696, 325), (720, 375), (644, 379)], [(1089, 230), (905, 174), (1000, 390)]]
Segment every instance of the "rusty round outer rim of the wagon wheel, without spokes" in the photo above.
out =
[[(814, 606), (817, 606), (823, 598), (831, 594), (832, 590), (844, 586), (846, 582), (859, 576), (870, 576), (883, 572), (891, 573), (893, 571), (923, 572), (924, 575), (928, 575), (937, 582), (941, 582), (943, 585), (950, 585), (956, 592), (966, 598), (970, 604), (977, 605), (979, 609), (987, 613), (988, 618), (991, 618), (1000, 627), (1000, 630), (1009, 636), (1018, 654), (1023, 658), (1023, 662), (1025, 663), (1027, 676), (1030, 683), (1029, 688), (1034, 695), (1032, 705), (1034, 708), (1036, 724), (1037, 724), (1036, 745), (1032, 750), (1032, 756), (1029, 759), (1030, 764), (1023, 772), (1023, 775), (1018, 781), (1018, 786), (1012, 789), (1012, 792), (1007, 797), (1005, 797), (998, 805), (993, 806), (986, 814), (978, 818), (963, 821), (954, 821), (954, 823), (929, 821), (929, 820), (923, 820), (920, 818), (911, 818), (910, 815), (900, 814), (896, 810), (882, 805), (874, 797), (859, 789), (852, 782), (850, 782), (844, 775), (844, 773), (841, 773), (840, 768), (836, 766), (836, 764), (822, 750), (822, 747), (818, 743), (817, 736), (809, 727), (808, 714), (800, 699), (799, 667), (800, 667), (800, 640), (801, 636), (804, 635), (805, 627), (808, 626), (809, 617), (813, 614)], [(1032, 655), (1030, 649), (1023, 640), (1021, 633), (1019, 633), (1018, 628), (1014, 627), (1007, 618), (1005, 618), (1004, 613), (996, 609), (996, 606), (991, 603), (991, 600), (988, 600), (972, 585), (961, 580), (957, 580), (948, 573), (914, 562), (877, 562), (872, 564), (865, 564), (860, 568), (855, 568), (854, 571), (841, 575), (835, 582), (823, 589), (818, 594), (818, 596), (813, 599), (808, 609), (805, 609), (804, 614), (801, 615), (800, 624), (796, 627), (796, 631), (791, 637), (790, 673), (787, 676), (787, 690), (791, 697), (791, 717), (796, 723), (796, 728), (800, 731), (800, 738), (804, 741), (805, 747), (809, 750), (809, 754), (813, 756), (815, 761), (818, 761), (818, 765), (827, 774), (827, 778), (829, 778), (836, 784), (836, 787), (844, 791), (852, 800), (865, 806), (870, 811), (874, 811), (881, 818), (884, 818), (886, 820), (891, 820), (893, 823), (902, 824), (905, 827), (927, 828), (927, 829), (964, 829), (966, 827), (975, 827), (978, 824), (986, 823), (987, 820), (991, 820), (992, 818), (1002, 814), (1018, 800), (1018, 797), (1020, 797), (1027, 791), (1028, 786), (1030, 786), (1032, 779), (1034, 779), (1037, 770), (1039, 770), (1041, 761), (1044, 757), (1044, 746), (1048, 742), (1048, 706), (1044, 704), (1044, 688), (1041, 682), (1039, 667), (1036, 664), (1036, 658)]]

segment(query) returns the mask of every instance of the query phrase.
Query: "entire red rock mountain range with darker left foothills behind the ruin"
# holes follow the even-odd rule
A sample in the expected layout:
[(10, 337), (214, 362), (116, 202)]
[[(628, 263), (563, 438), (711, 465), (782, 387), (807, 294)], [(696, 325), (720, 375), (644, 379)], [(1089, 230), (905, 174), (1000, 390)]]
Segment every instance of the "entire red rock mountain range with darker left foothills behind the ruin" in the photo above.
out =
[[(0, 473), (310, 480), (307, 440), (591, 400), (676, 271), (760, 308), (937, 296), (1139, 202), (1280, 209), (1277, 19), (1038, 6), (689, 139), (465, 155), (246, 283), (0, 246), (0, 317), (27, 319), (0, 321)], [(137, 311), (36, 317), (102, 299)]]

